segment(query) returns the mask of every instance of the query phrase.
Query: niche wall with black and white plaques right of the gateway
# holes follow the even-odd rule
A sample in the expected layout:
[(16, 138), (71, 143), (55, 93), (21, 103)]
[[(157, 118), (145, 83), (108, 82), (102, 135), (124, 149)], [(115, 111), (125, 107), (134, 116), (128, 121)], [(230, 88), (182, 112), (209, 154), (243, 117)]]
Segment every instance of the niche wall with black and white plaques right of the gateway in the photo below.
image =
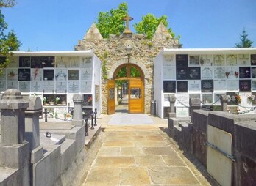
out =
[[(255, 52), (255, 51), (254, 51)], [(256, 52), (255, 52), (256, 53)], [(256, 105), (256, 54), (168, 54), (163, 56), (163, 112), (168, 117), (168, 97), (175, 94), (177, 116), (188, 116), (191, 97), (202, 107), (220, 109), (220, 96), (229, 95), (232, 113)], [(239, 106), (238, 106), (239, 105)], [(255, 111), (249, 112), (249, 114)]]

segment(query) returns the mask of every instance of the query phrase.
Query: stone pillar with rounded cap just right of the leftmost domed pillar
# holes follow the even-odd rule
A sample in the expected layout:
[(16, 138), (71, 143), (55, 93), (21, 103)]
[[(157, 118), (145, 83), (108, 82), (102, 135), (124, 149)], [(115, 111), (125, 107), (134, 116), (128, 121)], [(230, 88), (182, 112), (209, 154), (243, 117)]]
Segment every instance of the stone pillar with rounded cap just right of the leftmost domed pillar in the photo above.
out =
[(25, 139), (29, 141), (30, 151), (40, 146), (39, 116), (43, 112), (40, 97), (25, 97), (29, 107), (25, 111)]

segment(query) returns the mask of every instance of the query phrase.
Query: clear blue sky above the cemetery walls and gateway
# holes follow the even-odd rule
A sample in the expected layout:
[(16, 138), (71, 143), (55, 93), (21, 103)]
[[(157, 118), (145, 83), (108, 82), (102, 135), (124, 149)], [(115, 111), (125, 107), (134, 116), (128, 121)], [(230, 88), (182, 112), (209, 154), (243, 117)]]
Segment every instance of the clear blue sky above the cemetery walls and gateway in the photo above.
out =
[[(2, 10), (27, 51), (73, 51), (77, 40), (96, 21), (99, 12), (119, 0), (16, 0)], [(256, 46), (255, 0), (128, 0), (131, 24), (152, 13), (168, 16), (169, 27), (181, 35), (183, 48), (231, 48), (240, 42), (243, 28)], [(132, 31), (135, 31), (133, 27)]]

